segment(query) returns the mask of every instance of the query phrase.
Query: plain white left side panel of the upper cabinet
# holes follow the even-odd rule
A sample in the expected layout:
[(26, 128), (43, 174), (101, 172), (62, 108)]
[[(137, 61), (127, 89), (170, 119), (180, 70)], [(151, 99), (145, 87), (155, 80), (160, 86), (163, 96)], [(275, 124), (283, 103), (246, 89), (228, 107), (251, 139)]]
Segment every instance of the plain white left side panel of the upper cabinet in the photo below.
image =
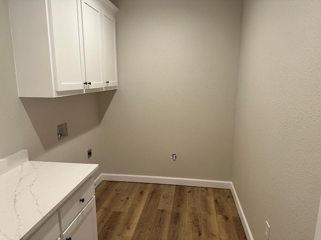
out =
[(19, 96), (52, 97), (46, 2), (9, 1)]

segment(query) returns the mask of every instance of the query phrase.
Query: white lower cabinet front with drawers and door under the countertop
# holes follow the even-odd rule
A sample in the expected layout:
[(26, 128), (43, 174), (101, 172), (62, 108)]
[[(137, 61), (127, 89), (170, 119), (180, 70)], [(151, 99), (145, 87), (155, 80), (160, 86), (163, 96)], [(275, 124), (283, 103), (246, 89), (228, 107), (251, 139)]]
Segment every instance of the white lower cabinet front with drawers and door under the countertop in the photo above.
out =
[(98, 240), (94, 193), (91, 176), (28, 240)]

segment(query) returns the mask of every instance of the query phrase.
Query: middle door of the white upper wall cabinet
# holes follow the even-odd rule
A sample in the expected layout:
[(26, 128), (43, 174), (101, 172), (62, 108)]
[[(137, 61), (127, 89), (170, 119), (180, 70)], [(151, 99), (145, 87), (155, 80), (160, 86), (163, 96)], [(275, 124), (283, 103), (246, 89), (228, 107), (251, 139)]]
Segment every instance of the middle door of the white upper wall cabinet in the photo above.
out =
[(104, 87), (102, 9), (93, 0), (82, 0), (86, 82), (88, 88)]

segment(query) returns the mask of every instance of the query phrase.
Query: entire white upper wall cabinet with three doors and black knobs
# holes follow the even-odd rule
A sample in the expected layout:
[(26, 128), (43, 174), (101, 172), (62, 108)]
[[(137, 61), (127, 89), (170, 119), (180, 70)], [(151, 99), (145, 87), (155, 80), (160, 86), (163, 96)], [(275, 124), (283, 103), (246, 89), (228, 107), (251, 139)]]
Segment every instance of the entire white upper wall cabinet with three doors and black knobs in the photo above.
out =
[(109, 0), (9, 0), (19, 96), (116, 89), (117, 10)]

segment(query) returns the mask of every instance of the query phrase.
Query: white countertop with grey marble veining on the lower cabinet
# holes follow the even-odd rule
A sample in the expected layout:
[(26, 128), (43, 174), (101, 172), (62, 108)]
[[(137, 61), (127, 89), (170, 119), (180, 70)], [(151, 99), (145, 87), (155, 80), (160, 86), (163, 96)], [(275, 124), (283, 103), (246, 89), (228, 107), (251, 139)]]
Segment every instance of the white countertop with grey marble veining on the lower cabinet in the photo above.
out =
[(97, 168), (28, 161), (27, 155), (22, 164), (0, 175), (0, 240), (27, 239)]

